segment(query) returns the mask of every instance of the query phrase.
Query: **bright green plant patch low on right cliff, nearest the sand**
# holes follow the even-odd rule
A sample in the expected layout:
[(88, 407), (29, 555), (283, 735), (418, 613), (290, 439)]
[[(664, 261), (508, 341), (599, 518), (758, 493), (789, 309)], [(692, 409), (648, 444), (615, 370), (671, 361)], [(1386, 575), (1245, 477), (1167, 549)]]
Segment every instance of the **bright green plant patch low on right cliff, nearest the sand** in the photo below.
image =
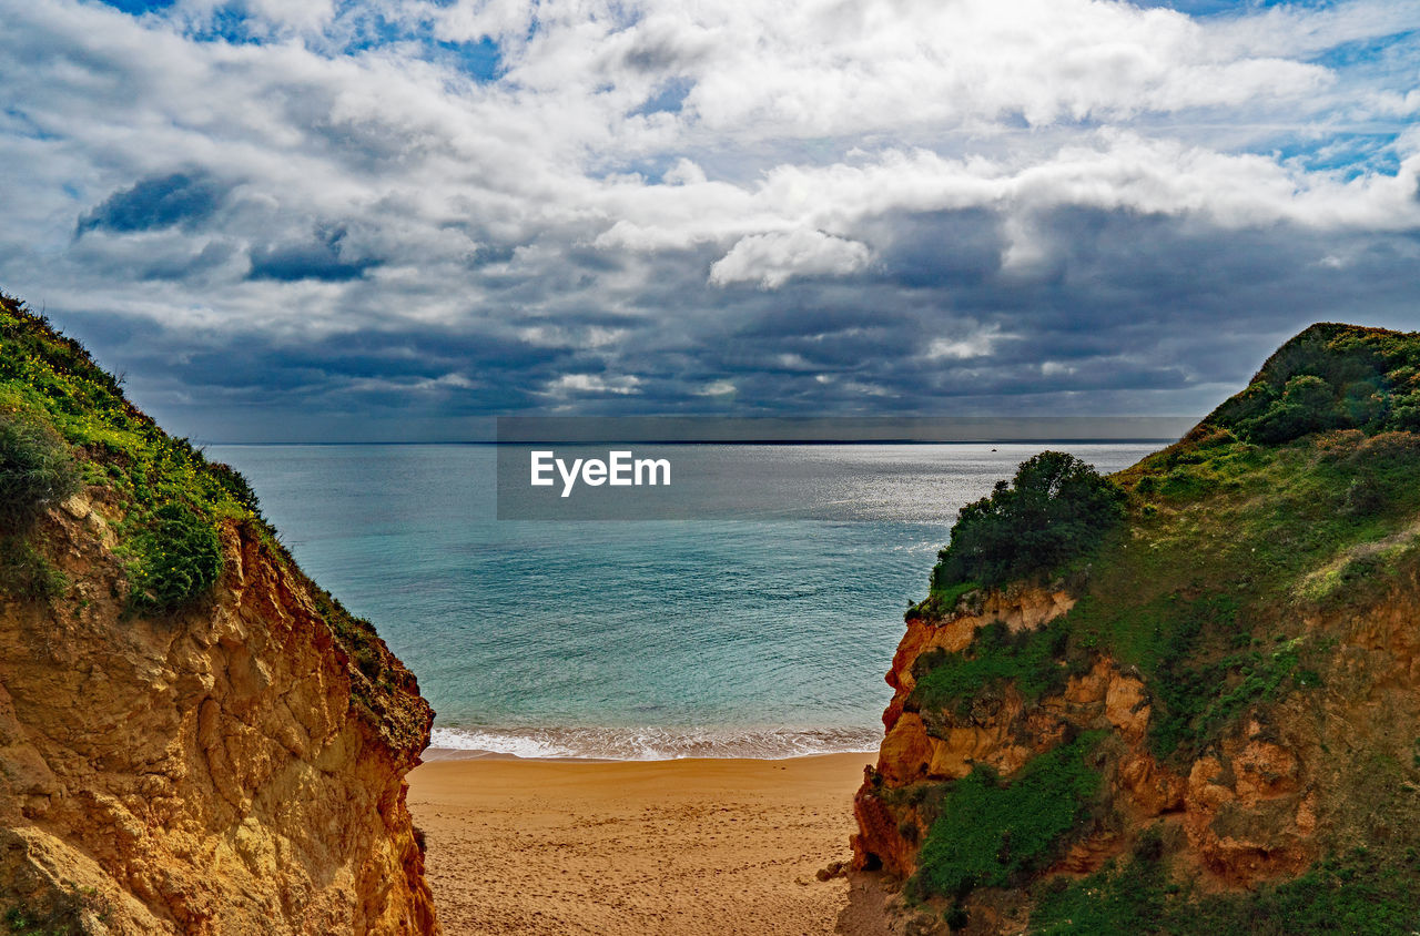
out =
[(1010, 783), (978, 766), (951, 784), (917, 856), (913, 892), (961, 900), (1045, 866), (1092, 820), (1100, 774), (1091, 760), (1100, 737), (1082, 734), (1041, 754)]

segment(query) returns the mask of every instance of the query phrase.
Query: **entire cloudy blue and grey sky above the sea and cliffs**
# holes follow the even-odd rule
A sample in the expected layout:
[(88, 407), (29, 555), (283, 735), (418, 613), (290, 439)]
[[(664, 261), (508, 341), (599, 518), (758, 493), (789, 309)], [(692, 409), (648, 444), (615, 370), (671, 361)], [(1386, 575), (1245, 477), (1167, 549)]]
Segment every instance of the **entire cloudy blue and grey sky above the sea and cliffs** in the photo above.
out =
[(199, 440), (1201, 415), (1420, 328), (1420, 3), (0, 0), (0, 290)]

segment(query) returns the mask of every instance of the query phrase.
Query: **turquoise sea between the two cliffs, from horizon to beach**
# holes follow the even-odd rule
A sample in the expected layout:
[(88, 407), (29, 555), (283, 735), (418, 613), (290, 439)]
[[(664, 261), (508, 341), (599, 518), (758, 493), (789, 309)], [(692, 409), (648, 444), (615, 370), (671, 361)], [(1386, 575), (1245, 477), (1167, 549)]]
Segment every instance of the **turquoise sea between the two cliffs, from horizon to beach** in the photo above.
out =
[[(207, 456), (417, 673), (435, 747), (639, 760), (876, 749), (902, 611), (957, 508), (1041, 447), (761, 446), (740, 486), (763, 506), (750, 487), (791, 467), (782, 511), (625, 523), (496, 520), (491, 446)], [(1054, 447), (1116, 470), (1159, 446)]]

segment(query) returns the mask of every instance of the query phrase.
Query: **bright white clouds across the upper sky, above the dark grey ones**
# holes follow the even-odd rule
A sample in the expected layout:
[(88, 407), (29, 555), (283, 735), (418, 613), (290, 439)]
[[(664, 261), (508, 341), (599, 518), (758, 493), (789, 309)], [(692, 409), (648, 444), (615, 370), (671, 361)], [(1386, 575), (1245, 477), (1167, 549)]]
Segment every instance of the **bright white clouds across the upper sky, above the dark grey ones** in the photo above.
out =
[[(1420, 24), (1393, 4), (1220, 23), (1100, 0), (354, 7), (427, 21), (450, 41), (498, 41), (504, 71), (491, 82), (408, 41), (354, 54), (314, 38), (196, 41), (183, 28), (212, 13), (197, 0), (142, 20), (71, 0), (0, 9), (0, 72), (16, 101), (0, 155), (14, 168), (11, 230), (24, 232), (6, 244), (18, 270), (3, 273), (74, 301), (85, 294), (75, 254), (116, 263), (126, 247), (95, 236), (65, 256), (71, 219), (136, 179), (190, 166), (234, 186), (220, 217), (230, 263), (210, 266), (206, 284), (240, 276), (250, 246), (341, 226), (342, 256), (378, 259), (371, 278), (419, 290), (447, 277), (466, 305), (486, 297), (470, 259), (500, 256), (501, 273), (540, 277), (558, 244), (717, 247), (714, 284), (852, 273), (870, 257), (859, 226), (895, 210), (1081, 205), (1223, 224), (1416, 223), (1413, 139), (1397, 172), (1346, 178), (1154, 124), (1235, 108), (1314, 119), (1338, 75), (1288, 55), (1322, 45), (1314, 21), (1346, 40)], [(246, 9), (270, 28), (354, 28), (324, 0)], [(683, 89), (677, 109), (640, 112), (667, 82)], [(1402, 89), (1372, 91), (1377, 112), (1406, 119)], [(656, 163), (660, 178), (648, 178)], [(1021, 237), (1030, 227), (1015, 224)], [(145, 236), (197, 253), (190, 234), (169, 234)], [(24, 274), (37, 237), (53, 276)], [(139, 304), (263, 327), (270, 315), (251, 322), (251, 310), (300, 288), (230, 283), (204, 317), (213, 301), (180, 298), (170, 283), (135, 284)], [(364, 322), (339, 307), (344, 291), (324, 290), (331, 304), (301, 324)]]

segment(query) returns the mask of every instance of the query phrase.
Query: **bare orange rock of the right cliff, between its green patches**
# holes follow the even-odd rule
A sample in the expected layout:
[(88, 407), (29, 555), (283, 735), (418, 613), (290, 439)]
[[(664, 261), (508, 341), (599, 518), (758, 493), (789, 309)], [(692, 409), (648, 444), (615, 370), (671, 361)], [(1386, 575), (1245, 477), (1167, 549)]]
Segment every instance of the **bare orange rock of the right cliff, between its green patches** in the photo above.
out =
[[(933, 646), (964, 649), (993, 621), (1041, 626), (1072, 604), (1064, 591), (1025, 588), (995, 592), (985, 608), (909, 624), (888, 676), (896, 693), (885, 713), (879, 760), (853, 802), (858, 868), (910, 879), (940, 815), (933, 790), (983, 764), (1008, 780), (1083, 731), (1106, 733), (1095, 749), (1100, 801), (1038, 879), (1100, 872), (1127, 859), (1147, 832), (1162, 832), (1177, 876), (1220, 893), (1252, 893), (1295, 879), (1346, 849), (1390, 845), (1414, 852), (1413, 822), (1420, 815), (1420, 571), (1414, 567), (1373, 602), (1298, 622), (1329, 648), (1323, 690), (1252, 707), (1186, 758), (1160, 757), (1150, 746), (1153, 692), (1136, 668), (1122, 668), (1110, 656), (1035, 702), (1007, 685), (977, 693), (966, 710), (914, 710), (913, 663), (922, 653)], [(974, 913), (967, 932), (1035, 932), (1028, 888), (978, 892), (968, 905)], [(1281, 932), (1294, 930), (1284, 925)]]

